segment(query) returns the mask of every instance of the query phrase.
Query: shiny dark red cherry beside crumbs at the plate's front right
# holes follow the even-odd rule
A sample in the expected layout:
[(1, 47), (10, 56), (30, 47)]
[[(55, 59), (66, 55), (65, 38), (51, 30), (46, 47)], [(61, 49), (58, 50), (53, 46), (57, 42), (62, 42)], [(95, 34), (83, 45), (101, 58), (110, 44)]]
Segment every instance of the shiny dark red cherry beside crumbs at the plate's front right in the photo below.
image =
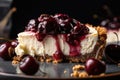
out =
[(90, 58), (85, 63), (85, 70), (89, 75), (99, 75), (105, 73), (106, 65), (103, 61)]

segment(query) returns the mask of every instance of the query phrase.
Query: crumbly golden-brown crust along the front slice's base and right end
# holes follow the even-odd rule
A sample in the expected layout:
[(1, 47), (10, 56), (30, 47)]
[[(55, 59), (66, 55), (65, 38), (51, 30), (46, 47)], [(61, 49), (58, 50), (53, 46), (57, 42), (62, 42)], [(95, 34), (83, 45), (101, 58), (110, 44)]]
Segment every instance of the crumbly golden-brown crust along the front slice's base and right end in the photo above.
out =
[[(93, 27), (92, 25), (86, 24), (87, 26)], [(101, 26), (97, 26), (94, 28), (97, 30), (98, 32), (98, 41), (95, 45), (95, 48), (93, 50), (93, 52), (86, 54), (86, 55), (82, 55), (82, 56), (76, 56), (76, 57), (70, 57), (70, 56), (66, 56), (65, 60), (53, 60), (53, 58), (51, 56), (48, 55), (44, 55), (44, 56), (37, 56), (35, 57), (38, 61), (40, 62), (53, 62), (53, 63), (58, 63), (58, 62), (62, 62), (62, 61), (68, 61), (68, 62), (85, 62), (88, 58), (95, 58), (96, 56), (96, 52), (97, 50), (101, 47), (101, 49), (99, 50), (99, 54), (98, 54), (98, 58), (97, 59), (102, 59), (103, 56), (103, 51), (106, 45), (106, 38), (107, 38), (107, 30), (104, 27)], [(15, 61), (21, 61), (22, 57), (20, 56), (14, 56), (13, 58), (13, 62)]]

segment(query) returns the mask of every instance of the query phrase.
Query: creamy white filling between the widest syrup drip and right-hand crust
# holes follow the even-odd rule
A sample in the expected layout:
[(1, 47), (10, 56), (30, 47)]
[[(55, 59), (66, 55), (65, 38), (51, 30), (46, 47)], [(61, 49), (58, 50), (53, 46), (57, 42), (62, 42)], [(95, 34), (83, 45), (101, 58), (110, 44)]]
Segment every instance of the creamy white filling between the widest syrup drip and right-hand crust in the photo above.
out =
[(85, 55), (87, 53), (91, 53), (94, 50), (94, 47), (96, 45), (96, 42), (98, 40), (98, 32), (92, 28), (89, 28), (89, 34), (86, 35), (85, 39), (81, 41), (81, 54)]

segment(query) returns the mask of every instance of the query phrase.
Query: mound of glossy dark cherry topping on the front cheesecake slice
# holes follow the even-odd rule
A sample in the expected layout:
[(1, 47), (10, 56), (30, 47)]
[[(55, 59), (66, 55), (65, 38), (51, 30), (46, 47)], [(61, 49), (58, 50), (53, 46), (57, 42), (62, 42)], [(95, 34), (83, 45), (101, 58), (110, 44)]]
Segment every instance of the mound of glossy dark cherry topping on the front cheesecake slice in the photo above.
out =
[(41, 34), (85, 35), (88, 33), (88, 28), (66, 14), (55, 14), (54, 16), (42, 14), (37, 20), (32, 19), (29, 21), (26, 31)]

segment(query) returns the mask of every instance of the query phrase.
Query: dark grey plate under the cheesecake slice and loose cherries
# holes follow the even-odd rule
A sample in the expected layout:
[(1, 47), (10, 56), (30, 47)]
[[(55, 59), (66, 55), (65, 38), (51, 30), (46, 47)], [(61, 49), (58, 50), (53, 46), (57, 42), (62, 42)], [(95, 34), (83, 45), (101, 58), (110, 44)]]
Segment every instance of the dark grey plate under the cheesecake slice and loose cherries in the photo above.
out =
[[(20, 72), (18, 65), (12, 65), (11, 61), (4, 61), (0, 58), (0, 79), (4, 80), (39, 80), (39, 79), (76, 79), (70, 76), (72, 67), (80, 63), (39, 63), (39, 71), (32, 76)], [(107, 64), (105, 75), (96, 75), (78, 79), (116, 78), (120, 76), (120, 67), (115, 64)]]

